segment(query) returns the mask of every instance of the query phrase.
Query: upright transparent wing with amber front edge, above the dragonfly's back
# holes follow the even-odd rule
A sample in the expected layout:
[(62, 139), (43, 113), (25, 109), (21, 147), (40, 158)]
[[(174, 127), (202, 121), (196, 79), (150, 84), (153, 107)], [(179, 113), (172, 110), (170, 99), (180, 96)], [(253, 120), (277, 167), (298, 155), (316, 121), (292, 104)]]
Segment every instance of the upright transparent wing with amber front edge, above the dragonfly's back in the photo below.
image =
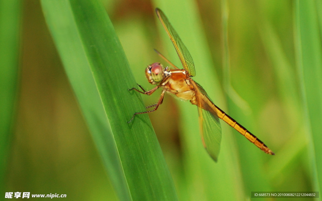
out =
[(156, 14), (158, 15), (158, 18), (160, 19), (163, 27), (168, 33), (173, 45), (175, 46), (175, 50), (178, 53), (183, 68), (189, 73), (190, 77), (195, 76), (196, 71), (194, 69), (194, 61), (191, 57), (190, 52), (185, 47), (185, 44), (181, 41), (178, 33), (172, 27), (168, 18), (166, 18), (166, 15), (159, 8), (156, 8)]

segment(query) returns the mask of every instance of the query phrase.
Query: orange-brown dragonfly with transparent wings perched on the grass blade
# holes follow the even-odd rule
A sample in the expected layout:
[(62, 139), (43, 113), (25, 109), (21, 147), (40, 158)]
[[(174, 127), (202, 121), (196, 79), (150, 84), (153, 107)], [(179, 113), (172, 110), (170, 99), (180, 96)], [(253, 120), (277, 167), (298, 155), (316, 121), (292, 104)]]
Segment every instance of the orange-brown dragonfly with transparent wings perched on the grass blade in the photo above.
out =
[(146, 68), (145, 74), (148, 82), (156, 85), (156, 87), (152, 88), (151, 90), (145, 90), (141, 85), (137, 84), (141, 90), (135, 87), (128, 89), (135, 90), (145, 95), (151, 95), (158, 88), (162, 88), (162, 93), (158, 102), (154, 105), (146, 107), (154, 107), (154, 109), (134, 113), (128, 123), (130, 123), (137, 114), (155, 112), (159, 105), (162, 104), (164, 95), (167, 92), (181, 99), (189, 100), (193, 105), (197, 105), (201, 140), (204, 148), (214, 161), (217, 161), (218, 159), (222, 139), (222, 129), (219, 119), (222, 119), (224, 122), (232, 126), (236, 131), (240, 132), (251, 143), (260, 148), (260, 150), (267, 154), (275, 155), (274, 152), (272, 152), (262, 141), (260, 141), (260, 139), (258, 139), (241, 124), (236, 122), (232, 117), (213, 104), (204, 88), (192, 79), (192, 77), (196, 75), (196, 71), (194, 68), (194, 61), (188, 49), (170, 24), (166, 15), (159, 8), (156, 8), (156, 14), (175, 47), (183, 69), (176, 67), (159, 51), (155, 50), (161, 58), (163, 58), (173, 67), (173, 69), (170, 69), (169, 67), (164, 68), (163, 65), (158, 62), (153, 63)]

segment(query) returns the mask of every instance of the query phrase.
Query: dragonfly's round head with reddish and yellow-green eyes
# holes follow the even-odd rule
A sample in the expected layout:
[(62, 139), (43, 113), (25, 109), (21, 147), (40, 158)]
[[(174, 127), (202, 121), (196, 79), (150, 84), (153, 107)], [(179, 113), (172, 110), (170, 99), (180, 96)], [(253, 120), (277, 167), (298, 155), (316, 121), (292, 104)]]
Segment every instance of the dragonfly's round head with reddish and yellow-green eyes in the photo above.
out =
[(162, 64), (158, 62), (153, 63), (147, 67), (147, 69), (145, 70), (145, 75), (147, 76), (147, 80), (151, 84), (156, 85), (164, 78), (164, 68)]

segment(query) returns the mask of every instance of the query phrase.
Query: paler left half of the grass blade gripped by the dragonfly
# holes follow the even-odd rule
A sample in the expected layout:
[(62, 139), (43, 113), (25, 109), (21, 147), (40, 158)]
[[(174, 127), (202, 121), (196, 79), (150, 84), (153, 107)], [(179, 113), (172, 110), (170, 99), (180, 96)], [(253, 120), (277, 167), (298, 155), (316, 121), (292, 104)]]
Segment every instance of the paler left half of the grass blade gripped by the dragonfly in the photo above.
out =
[[(95, 82), (92, 78), (86, 54), (82, 50), (79, 33), (75, 26), (67, 29), (63, 24), (63, 22), (66, 24), (74, 23), (72, 13), (68, 9), (68, 3), (66, 1), (56, 3), (43, 1), (42, 5), (66, 73), (79, 100), (84, 117), (88, 122), (99, 154), (106, 169), (111, 173), (110, 178), (116, 191), (123, 192), (119, 194), (120, 200), (130, 200), (112, 131), (99, 94), (95, 90)], [(59, 11), (60, 15), (57, 15), (55, 11)]]

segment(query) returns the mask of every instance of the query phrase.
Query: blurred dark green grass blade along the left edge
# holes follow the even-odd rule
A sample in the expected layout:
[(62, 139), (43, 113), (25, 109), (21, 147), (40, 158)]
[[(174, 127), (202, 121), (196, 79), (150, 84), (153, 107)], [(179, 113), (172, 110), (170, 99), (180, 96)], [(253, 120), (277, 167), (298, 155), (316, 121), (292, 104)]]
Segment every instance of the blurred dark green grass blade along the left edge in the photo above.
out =
[(0, 189), (11, 148), (17, 97), (21, 2), (0, 0)]

